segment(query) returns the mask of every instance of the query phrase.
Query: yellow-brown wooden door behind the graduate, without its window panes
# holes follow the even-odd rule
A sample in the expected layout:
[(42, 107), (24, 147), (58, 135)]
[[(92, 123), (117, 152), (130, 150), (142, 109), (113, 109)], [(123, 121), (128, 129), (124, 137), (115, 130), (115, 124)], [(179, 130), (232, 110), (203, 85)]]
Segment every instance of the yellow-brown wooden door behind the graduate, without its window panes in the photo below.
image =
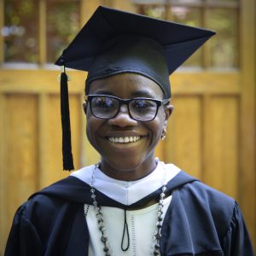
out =
[[(113, 7), (120, 8), (120, 2)], [(89, 10), (86, 20), (97, 1), (83, 3)], [(172, 75), (175, 110), (157, 156), (235, 197), (255, 246), (256, 7), (253, 0), (241, 3), (241, 68)], [(16, 208), (33, 192), (69, 174), (61, 171), (58, 74), (44, 68), (0, 69), (0, 255)], [(95, 163), (99, 156), (85, 137), (86, 73), (68, 74), (72, 76), (72, 143), (78, 169)]]

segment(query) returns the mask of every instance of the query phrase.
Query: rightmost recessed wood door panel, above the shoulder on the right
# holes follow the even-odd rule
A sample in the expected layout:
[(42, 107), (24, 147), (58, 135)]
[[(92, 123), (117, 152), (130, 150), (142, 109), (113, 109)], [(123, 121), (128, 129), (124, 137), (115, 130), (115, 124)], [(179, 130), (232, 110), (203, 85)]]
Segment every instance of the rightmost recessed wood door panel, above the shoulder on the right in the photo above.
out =
[(204, 137), (207, 160), (203, 180), (213, 188), (238, 196), (238, 111), (237, 97), (214, 96), (207, 114), (209, 130)]

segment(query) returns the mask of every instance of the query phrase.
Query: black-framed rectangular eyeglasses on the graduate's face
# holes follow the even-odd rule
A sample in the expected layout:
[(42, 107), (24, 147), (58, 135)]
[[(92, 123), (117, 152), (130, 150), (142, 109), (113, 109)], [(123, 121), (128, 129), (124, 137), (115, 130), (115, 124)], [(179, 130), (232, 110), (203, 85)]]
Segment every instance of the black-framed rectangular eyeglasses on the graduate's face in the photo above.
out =
[(143, 97), (123, 100), (107, 95), (88, 95), (85, 100), (90, 103), (90, 111), (96, 118), (113, 119), (119, 113), (121, 105), (125, 104), (131, 119), (143, 122), (153, 120), (160, 106), (170, 102), (169, 99), (154, 100)]

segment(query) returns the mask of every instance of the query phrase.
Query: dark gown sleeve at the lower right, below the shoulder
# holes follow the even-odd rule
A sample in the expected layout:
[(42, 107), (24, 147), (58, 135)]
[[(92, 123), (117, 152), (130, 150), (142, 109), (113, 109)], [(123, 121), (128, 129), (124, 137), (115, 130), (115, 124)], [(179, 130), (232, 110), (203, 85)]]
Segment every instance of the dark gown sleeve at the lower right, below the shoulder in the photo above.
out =
[(233, 218), (229, 230), (224, 236), (224, 255), (226, 256), (253, 256), (253, 246), (250, 241), (247, 227), (241, 211), (235, 203)]

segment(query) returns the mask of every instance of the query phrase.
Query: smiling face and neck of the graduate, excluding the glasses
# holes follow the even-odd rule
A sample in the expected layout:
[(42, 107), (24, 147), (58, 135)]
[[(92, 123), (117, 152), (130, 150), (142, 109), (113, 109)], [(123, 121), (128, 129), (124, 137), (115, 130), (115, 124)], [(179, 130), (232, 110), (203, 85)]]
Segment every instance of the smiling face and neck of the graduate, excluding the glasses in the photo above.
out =
[[(117, 96), (121, 99), (163, 99), (163, 92), (158, 84), (135, 73), (123, 73), (93, 81), (89, 94)], [(84, 112), (87, 117), (87, 137), (102, 156), (102, 172), (119, 180), (136, 180), (154, 170), (154, 148), (166, 128), (172, 106), (160, 107), (155, 119), (148, 122), (131, 119), (125, 105), (121, 105), (119, 113), (112, 119), (96, 118), (86, 103)], [(136, 137), (137, 140), (115, 143), (113, 139), (125, 140), (125, 137)]]

